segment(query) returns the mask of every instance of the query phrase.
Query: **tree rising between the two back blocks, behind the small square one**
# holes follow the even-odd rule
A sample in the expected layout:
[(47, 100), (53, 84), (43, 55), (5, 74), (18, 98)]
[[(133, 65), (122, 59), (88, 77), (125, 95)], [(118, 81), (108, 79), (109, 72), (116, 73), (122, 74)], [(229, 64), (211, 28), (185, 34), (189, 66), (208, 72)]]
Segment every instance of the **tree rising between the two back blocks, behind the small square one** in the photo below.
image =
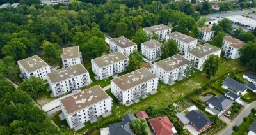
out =
[(139, 29), (134, 37), (133, 37), (133, 41), (134, 43), (137, 44), (138, 46), (138, 51), (140, 51), (140, 48), (141, 48), (141, 43), (145, 42), (145, 41), (148, 41), (148, 34), (146, 31), (144, 31), (143, 29)]

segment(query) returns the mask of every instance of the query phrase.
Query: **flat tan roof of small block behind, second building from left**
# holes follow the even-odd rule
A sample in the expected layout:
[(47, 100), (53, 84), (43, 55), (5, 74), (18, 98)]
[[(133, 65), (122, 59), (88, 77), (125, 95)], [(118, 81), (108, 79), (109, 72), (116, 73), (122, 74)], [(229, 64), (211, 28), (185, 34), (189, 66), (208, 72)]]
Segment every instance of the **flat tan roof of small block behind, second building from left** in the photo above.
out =
[(63, 59), (72, 59), (79, 57), (79, 46), (63, 48)]

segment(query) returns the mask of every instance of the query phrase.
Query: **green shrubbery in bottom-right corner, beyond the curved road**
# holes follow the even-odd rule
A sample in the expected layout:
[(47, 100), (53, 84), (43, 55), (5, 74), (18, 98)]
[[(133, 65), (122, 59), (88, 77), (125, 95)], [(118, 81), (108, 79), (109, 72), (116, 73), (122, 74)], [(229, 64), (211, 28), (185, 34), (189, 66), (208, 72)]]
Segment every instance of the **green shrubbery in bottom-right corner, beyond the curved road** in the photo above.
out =
[(233, 132), (232, 135), (247, 134), (249, 131), (249, 127), (253, 124), (255, 120), (255, 115), (253, 113), (250, 113), (247, 117), (246, 122), (243, 122), (241, 125), (239, 125), (239, 132)]

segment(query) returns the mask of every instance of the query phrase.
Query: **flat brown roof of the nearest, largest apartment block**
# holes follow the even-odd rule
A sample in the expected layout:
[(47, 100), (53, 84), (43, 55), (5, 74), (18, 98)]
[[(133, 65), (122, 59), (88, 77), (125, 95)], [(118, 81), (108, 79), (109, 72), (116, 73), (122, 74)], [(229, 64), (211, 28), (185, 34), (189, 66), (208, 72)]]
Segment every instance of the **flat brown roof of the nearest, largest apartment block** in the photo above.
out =
[(95, 87), (82, 90), (72, 96), (65, 97), (61, 99), (60, 102), (67, 111), (67, 114), (70, 115), (108, 98), (108, 94), (102, 90), (100, 85), (96, 85)]

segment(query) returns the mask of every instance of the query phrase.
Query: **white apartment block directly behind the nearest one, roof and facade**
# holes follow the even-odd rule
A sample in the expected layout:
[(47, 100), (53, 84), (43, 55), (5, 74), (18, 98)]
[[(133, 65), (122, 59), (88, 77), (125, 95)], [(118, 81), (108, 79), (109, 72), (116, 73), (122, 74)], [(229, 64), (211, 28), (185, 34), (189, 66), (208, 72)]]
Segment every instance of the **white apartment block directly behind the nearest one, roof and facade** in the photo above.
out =
[(82, 64), (48, 73), (47, 80), (54, 97), (90, 84), (89, 73)]

